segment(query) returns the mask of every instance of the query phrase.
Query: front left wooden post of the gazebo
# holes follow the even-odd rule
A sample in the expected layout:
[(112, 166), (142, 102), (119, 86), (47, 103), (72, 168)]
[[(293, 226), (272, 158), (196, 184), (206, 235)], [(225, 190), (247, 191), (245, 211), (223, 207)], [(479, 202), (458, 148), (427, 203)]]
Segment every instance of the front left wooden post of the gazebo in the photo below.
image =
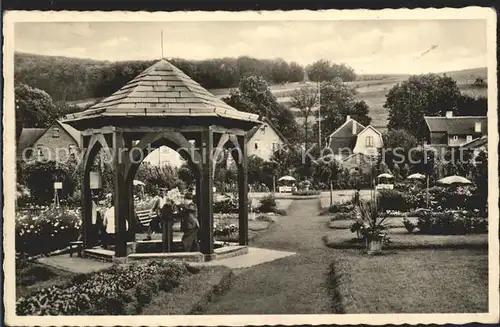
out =
[(115, 167), (115, 256), (127, 256), (126, 221), (128, 220), (129, 201), (128, 191), (125, 183), (125, 160), (128, 151), (125, 149), (125, 142), (122, 132), (113, 133), (113, 160)]

